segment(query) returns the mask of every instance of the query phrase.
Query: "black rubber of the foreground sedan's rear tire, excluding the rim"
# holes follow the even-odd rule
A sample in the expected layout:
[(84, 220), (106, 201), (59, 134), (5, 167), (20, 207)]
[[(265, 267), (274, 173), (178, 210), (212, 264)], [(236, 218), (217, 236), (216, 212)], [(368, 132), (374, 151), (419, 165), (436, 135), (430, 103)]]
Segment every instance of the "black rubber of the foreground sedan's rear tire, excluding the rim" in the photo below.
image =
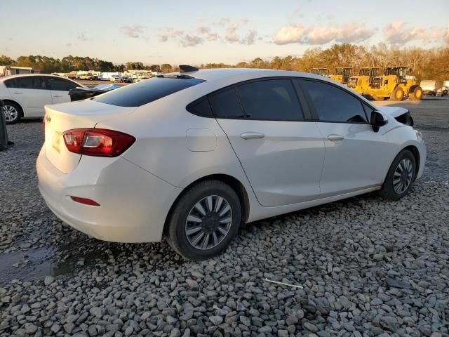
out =
[[(192, 214), (191, 212), (194, 211), (194, 206), (197, 203), (209, 196), (222, 197), (225, 201), (227, 201), (227, 204), (229, 204), (232, 212), (232, 220), (230, 221), (230, 227), (227, 234), (220, 238), (221, 241), (216, 246), (211, 246), (209, 249), (198, 249), (193, 246), (187, 238), (187, 217), (189, 214)], [(215, 206), (216, 205), (217, 202), (215, 201)], [(213, 206), (212, 209), (215, 209), (215, 207)], [(208, 212), (206, 216), (209, 216), (209, 211), (207, 209), (205, 210)], [(219, 211), (221, 211), (221, 209)], [(203, 232), (203, 228), (205, 228), (205, 231), (210, 230), (206, 229), (207, 225), (215, 226), (215, 223), (219, 223), (219, 219), (216, 219), (214, 224), (206, 223), (204, 220), (206, 219), (206, 216), (204, 216), (203, 222), (199, 225), (199, 227), (201, 227), (199, 234)], [(212, 258), (213, 256), (217, 256), (226, 249), (229, 242), (231, 242), (237, 234), (240, 223), (241, 204), (236, 192), (234, 192), (229, 185), (222, 183), (219, 180), (204, 180), (201, 183), (190, 187), (189, 190), (177, 200), (167, 223), (168, 228), (166, 230), (166, 239), (168, 244), (170, 244), (170, 246), (178, 254), (180, 254), (180, 256), (189, 260), (206, 260), (208, 258)], [(193, 234), (191, 235), (193, 236)], [(203, 236), (205, 239), (206, 235), (208, 234)], [(213, 237), (210, 237), (210, 240), (213, 241), (213, 239)], [(194, 241), (194, 239), (192, 241)], [(203, 239), (201, 239), (200, 242), (201, 241), (203, 241)], [(210, 241), (208, 240), (208, 242)], [(215, 242), (211, 243), (211, 245), (213, 244), (215, 244)]]

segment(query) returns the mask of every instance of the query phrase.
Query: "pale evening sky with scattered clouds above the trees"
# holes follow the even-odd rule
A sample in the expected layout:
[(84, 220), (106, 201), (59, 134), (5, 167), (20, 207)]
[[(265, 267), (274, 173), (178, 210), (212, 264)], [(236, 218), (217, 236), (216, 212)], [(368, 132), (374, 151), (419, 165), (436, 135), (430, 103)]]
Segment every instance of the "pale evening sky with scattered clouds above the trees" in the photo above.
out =
[(449, 46), (449, 0), (0, 0), (0, 55), (234, 64), (348, 42)]

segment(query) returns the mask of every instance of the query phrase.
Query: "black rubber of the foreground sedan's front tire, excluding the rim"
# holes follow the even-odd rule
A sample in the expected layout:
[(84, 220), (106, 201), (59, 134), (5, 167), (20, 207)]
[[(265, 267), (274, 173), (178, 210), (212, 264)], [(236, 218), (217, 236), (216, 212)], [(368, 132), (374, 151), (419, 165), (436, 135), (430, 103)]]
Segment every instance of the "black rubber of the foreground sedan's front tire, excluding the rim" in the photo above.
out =
[[(410, 176), (410, 183), (406, 186), (405, 190), (398, 192), (395, 190), (394, 187), (394, 178), (396, 169), (398, 169), (398, 166), (400, 163), (404, 163), (404, 160), (410, 161), (411, 164), (411, 170), (408, 173), (408, 176)], [(380, 194), (385, 199), (391, 199), (391, 200), (398, 200), (401, 199), (403, 196), (405, 196), (408, 191), (410, 190), (410, 187), (412, 187), (413, 182), (415, 181), (415, 173), (416, 173), (416, 159), (412, 152), (409, 150), (403, 150), (400, 152), (396, 158), (394, 159), (393, 163), (391, 164), (388, 173), (387, 178), (385, 178), (384, 184), (382, 185), (382, 188), (380, 190)], [(405, 175), (404, 175), (405, 176)], [(396, 178), (398, 178), (396, 176)], [(405, 178), (401, 176), (401, 179)]]

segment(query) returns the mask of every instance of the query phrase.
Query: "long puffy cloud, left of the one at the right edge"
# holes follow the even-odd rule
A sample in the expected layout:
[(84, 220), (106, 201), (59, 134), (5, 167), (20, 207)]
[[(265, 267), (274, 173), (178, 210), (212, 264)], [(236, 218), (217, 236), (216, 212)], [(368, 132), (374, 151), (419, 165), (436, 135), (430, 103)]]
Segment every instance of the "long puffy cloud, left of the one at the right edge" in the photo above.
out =
[(366, 28), (363, 23), (349, 22), (345, 25), (281, 27), (274, 37), (275, 44), (327, 44), (330, 41), (356, 43), (369, 39), (376, 29)]

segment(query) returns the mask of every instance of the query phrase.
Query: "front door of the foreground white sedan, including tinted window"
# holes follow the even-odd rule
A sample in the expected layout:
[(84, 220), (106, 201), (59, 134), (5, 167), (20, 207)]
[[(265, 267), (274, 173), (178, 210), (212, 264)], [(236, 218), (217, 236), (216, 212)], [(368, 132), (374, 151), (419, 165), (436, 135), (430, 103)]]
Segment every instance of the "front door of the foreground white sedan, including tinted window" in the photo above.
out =
[(322, 197), (331, 197), (382, 184), (391, 163), (384, 128), (374, 132), (368, 123), (373, 110), (349, 91), (324, 81), (298, 80), (325, 139), (321, 176)]

